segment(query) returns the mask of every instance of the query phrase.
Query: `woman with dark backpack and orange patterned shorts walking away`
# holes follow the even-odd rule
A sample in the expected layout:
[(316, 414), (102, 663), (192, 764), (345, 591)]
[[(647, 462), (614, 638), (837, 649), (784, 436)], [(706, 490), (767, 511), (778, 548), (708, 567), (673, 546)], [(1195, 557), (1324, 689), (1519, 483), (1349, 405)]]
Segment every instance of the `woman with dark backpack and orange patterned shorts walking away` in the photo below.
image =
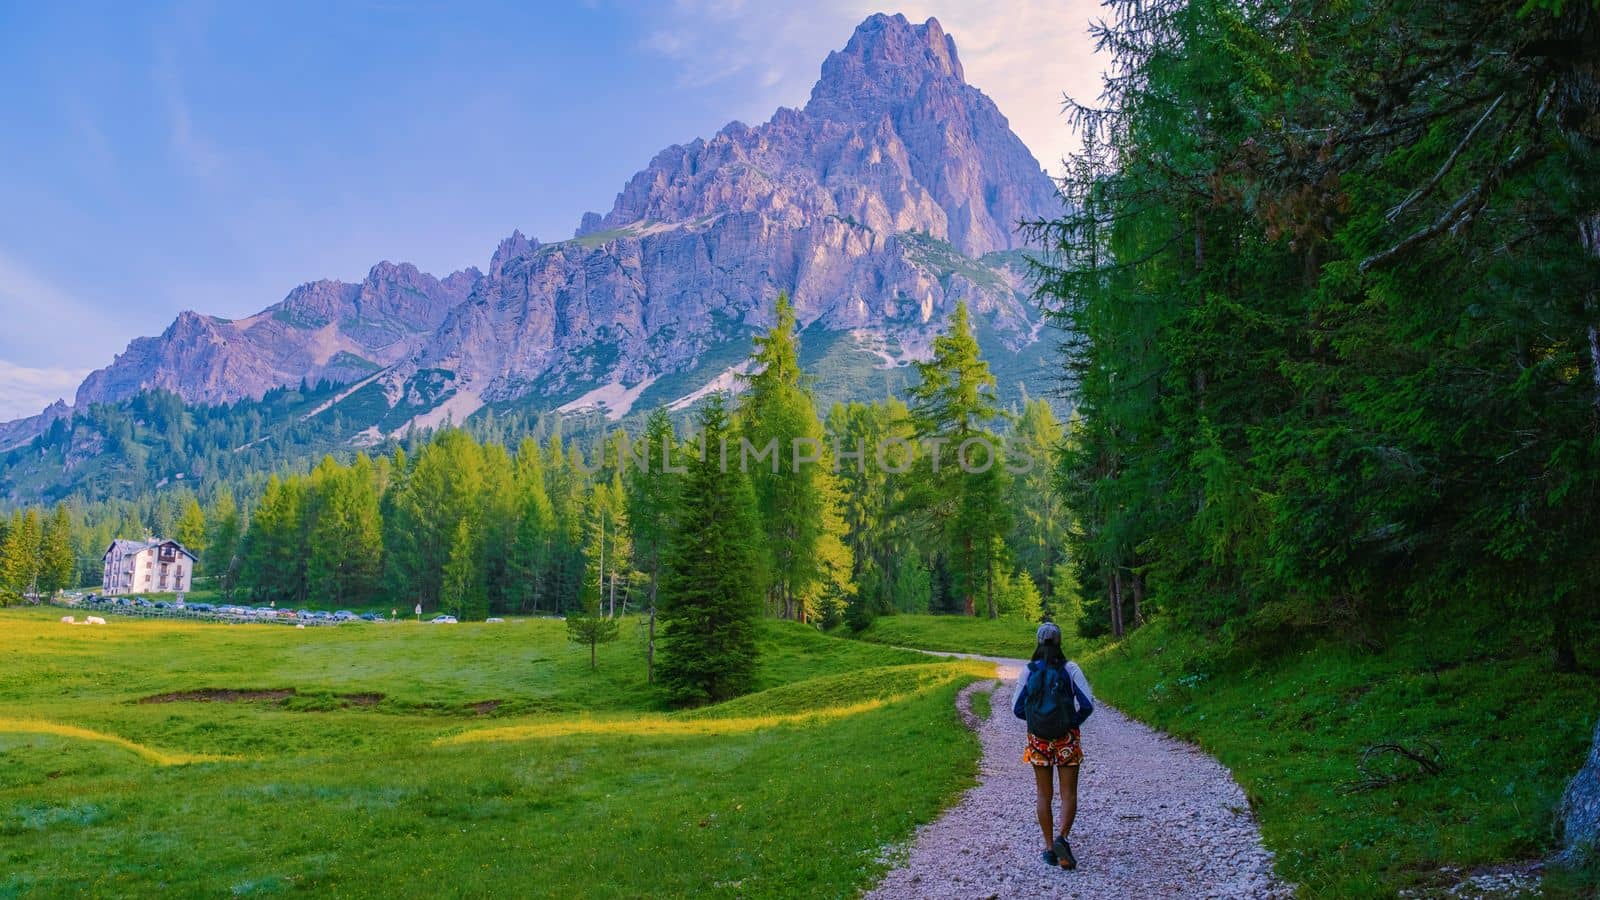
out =
[[(1046, 865), (1078, 868), (1072, 855), (1072, 820), (1078, 815), (1078, 767), (1083, 743), (1078, 725), (1094, 711), (1094, 695), (1083, 669), (1061, 652), (1061, 628), (1053, 621), (1038, 626), (1038, 647), (1027, 673), (1016, 682), (1011, 711), (1027, 719), (1027, 749), (1022, 762), (1034, 767), (1038, 790), (1038, 828), (1045, 834)], [(1061, 831), (1051, 828), (1050, 794), (1054, 772), (1061, 772)]]

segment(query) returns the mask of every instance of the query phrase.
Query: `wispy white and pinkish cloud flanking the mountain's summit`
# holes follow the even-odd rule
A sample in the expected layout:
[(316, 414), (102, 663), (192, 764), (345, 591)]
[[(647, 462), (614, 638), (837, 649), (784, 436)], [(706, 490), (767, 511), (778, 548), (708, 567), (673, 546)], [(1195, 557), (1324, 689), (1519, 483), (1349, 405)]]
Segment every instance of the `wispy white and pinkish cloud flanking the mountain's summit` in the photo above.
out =
[[(878, 10), (861, 0), (675, 0), (643, 43), (678, 62), (686, 88), (746, 78), (768, 88), (776, 107), (803, 102), (827, 51)], [(1106, 59), (1088, 34), (1102, 16), (1096, 0), (906, 0), (898, 11), (918, 22), (938, 18), (966, 80), (994, 98), (1042, 165), (1061, 168), (1078, 144), (1062, 98), (1094, 102), (1101, 91)]]

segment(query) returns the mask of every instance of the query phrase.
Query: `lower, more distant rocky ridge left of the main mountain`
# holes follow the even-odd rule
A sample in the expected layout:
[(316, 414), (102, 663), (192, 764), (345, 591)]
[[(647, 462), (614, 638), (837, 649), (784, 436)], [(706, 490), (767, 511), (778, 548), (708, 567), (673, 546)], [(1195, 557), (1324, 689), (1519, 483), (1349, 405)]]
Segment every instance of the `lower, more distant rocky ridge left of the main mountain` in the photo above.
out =
[(469, 269), (442, 282), (410, 263), (379, 263), (360, 283), (304, 283), (248, 319), (186, 311), (160, 336), (134, 340), (90, 373), (75, 405), (125, 400), (149, 388), (219, 404), (301, 378), (354, 381), (416, 352), (478, 279)]

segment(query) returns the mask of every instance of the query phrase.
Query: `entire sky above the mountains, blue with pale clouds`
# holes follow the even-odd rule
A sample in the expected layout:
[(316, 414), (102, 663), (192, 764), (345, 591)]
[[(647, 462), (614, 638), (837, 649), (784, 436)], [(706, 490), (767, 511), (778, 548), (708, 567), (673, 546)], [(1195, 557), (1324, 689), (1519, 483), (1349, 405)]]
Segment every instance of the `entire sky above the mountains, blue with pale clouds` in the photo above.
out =
[(803, 104), (878, 10), (938, 16), (1054, 168), (1086, 0), (0, 2), (0, 420), (181, 309), (570, 237), (664, 146)]

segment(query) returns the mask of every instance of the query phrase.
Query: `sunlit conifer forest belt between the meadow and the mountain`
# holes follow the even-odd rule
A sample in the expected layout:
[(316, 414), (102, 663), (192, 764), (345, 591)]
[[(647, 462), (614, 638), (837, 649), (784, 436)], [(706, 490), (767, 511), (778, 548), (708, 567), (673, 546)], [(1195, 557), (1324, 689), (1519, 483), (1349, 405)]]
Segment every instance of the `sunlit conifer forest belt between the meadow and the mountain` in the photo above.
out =
[[(749, 687), (763, 609), (864, 628), (893, 612), (976, 613), (982, 597), (987, 615), (1038, 617), (1066, 527), (1045, 490), (1061, 424), (1040, 400), (998, 407), (965, 306), (910, 407), (835, 405), (826, 421), (794, 309), (779, 296), (774, 312), (742, 394), (704, 400), (682, 440), (667, 408), (638, 434), (582, 415), (485, 413), (259, 479), (174, 474), (128, 500), (75, 498), (46, 527), (38, 509), (18, 511), (0, 538), (16, 548), (0, 556), (8, 596), (98, 585), (112, 538), (176, 536), (200, 559), (195, 586), (226, 601), (565, 615), (592, 657), (621, 617), (645, 613), (646, 677), (659, 637), (659, 681), (683, 703)], [(136, 405), (130, 440), (174, 453), (186, 428), (227, 420), (171, 396)], [(1034, 460), (1013, 469), (1011, 456)]]

